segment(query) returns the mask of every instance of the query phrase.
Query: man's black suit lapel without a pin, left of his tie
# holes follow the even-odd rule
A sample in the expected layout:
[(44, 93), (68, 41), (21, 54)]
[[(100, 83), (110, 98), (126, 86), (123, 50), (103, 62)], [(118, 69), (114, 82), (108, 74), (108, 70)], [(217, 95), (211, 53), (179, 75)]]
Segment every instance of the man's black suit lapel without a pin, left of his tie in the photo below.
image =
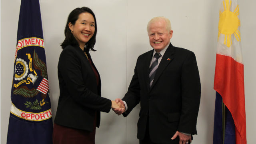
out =
[(151, 50), (151, 52), (149, 52), (149, 54), (146, 56), (145, 63), (144, 63), (144, 68), (143, 68), (144, 69), (144, 79), (145, 79), (148, 91), (149, 91), (149, 65), (150, 65), (150, 61), (151, 61), (152, 56), (153, 56), (153, 51), (154, 50)]

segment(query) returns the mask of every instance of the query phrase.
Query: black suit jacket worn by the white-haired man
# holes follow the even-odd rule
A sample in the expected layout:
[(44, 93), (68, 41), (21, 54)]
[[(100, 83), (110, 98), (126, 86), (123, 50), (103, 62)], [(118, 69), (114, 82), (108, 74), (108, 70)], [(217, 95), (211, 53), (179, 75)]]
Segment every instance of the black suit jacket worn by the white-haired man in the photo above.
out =
[(201, 85), (196, 57), (193, 52), (170, 44), (149, 87), (149, 65), (153, 50), (138, 57), (134, 76), (125, 94), (127, 116), (140, 102), (138, 139), (143, 139), (148, 128), (153, 142), (172, 144), (176, 131), (197, 134)]

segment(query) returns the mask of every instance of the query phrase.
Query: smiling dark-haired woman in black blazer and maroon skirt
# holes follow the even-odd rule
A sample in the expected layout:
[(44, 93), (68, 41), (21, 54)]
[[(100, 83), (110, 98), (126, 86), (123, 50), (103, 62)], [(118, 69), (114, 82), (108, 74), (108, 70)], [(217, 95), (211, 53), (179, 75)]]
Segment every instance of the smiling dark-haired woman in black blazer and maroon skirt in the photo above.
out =
[(119, 108), (101, 97), (100, 75), (89, 50), (94, 50), (97, 23), (92, 10), (76, 8), (68, 16), (58, 63), (60, 97), (54, 120), (54, 144), (94, 144), (100, 111)]

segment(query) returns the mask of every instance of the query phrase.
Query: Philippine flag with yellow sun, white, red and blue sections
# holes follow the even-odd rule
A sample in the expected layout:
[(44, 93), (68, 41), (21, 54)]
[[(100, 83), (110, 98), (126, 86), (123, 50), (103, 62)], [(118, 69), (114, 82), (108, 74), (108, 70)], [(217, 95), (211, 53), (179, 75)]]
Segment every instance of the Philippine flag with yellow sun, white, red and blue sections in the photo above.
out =
[[(223, 0), (214, 77), (216, 106), (213, 144), (222, 144), (222, 141), (224, 144), (246, 144), (244, 64), (240, 41), (238, 0)], [(222, 101), (226, 108), (224, 114)]]

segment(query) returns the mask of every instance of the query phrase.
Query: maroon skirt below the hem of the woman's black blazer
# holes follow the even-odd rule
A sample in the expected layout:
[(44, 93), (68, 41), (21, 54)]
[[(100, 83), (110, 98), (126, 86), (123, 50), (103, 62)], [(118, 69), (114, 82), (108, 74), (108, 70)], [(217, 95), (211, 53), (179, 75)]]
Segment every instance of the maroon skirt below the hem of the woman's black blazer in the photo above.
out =
[(95, 144), (96, 120), (93, 127), (93, 131), (89, 132), (54, 124), (53, 144)]

